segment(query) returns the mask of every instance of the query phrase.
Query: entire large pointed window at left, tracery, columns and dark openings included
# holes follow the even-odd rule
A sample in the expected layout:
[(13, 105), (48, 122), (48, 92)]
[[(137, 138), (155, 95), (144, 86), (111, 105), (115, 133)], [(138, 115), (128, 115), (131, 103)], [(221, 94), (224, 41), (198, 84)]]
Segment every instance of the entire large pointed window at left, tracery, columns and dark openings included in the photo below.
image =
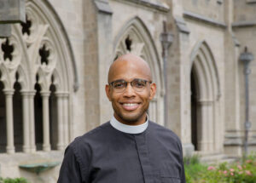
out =
[(51, 11), (47, 2), (27, 1), (26, 23), (0, 39), (0, 153), (63, 150), (71, 139), (76, 67)]

